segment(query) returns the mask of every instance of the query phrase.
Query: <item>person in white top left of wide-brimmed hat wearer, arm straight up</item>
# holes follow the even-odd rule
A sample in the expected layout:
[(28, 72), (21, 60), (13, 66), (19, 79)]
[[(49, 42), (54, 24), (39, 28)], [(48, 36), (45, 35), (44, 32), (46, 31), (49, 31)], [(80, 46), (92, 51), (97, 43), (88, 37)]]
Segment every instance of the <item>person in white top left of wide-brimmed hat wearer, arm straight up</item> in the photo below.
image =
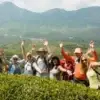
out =
[[(32, 50), (33, 49), (35, 48), (32, 48)], [(33, 57), (32, 53), (27, 52), (26, 54), (25, 47), (24, 47), (24, 41), (22, 41), (21, 43), (21, 50), (22, 50), (23, 58), (25, 60), (24, 74), (25, 75), (36, 75), (36, 72), (42, 73), (36, 64), (36, 59), (35, 57)]]

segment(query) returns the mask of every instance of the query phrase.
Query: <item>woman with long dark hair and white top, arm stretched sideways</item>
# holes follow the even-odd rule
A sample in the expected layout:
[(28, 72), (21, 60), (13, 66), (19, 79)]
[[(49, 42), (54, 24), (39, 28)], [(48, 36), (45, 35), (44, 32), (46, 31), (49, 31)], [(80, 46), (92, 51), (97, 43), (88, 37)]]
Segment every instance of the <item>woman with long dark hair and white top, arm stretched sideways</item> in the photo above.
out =
[(51, 60), (50, 79), (60, 80), (60, 72), (67, 73), (67, 70), (60, 65), (60, 60), (54, 56)]

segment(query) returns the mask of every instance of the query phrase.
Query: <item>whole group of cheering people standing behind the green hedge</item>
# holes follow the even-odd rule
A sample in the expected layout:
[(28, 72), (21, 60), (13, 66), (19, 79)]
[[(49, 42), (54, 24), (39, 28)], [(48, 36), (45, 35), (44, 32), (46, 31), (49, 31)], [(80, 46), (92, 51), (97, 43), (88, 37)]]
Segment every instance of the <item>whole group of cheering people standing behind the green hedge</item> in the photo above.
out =
[[(21, 43), (23, 59), (18, 55), (13, 55), (8, 61), (4, 51), (0, 50), (0, 72), (3, 72), (3, 66), (6, 66), (8, 74), (34, 75), (50, 79), (65, 80), (74, 83), (83, 84), (90, 88), (100, 89), (100, 80), (95, 70), (100, 66), (98, 55), (94, 49), (94, 42), (91, 41), (89, 49), (83, 53), (81, 48), (76, 48), (74, 56), (65, 52), (63, 43), (60, 43), (60, 49), (63, 59), (55, 56), (50, 48), (48, 41), (44, 42), (45, 48), (36, 50), (35, 46), (30, 52), (26, 53), (24, 41)], [(22, 71), (24, 66), (24, 71)]]

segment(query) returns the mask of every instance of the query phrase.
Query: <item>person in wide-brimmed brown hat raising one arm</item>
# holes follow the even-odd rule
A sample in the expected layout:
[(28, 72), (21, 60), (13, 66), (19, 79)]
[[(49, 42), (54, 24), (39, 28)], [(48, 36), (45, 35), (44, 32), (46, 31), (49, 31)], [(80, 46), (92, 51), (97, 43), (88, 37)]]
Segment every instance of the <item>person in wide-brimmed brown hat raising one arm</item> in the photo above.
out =
[(37, 72), (37, 76), (39, 77), (49, 77), (49, 61), (52, 57), (48, 41), (43, 42), (44, 48), (39, 48), (37, 52), (36, 62), (38, 67), (41, 69), (41, 74)]

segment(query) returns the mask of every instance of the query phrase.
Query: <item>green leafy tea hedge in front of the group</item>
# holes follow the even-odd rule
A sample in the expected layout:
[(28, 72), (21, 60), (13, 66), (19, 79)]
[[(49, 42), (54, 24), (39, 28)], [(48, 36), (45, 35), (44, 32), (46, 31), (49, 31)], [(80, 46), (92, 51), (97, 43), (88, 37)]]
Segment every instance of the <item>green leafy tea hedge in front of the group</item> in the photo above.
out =
[(0, 100), (100, 100), (100, 91), (38, 77), (0, 75)]

